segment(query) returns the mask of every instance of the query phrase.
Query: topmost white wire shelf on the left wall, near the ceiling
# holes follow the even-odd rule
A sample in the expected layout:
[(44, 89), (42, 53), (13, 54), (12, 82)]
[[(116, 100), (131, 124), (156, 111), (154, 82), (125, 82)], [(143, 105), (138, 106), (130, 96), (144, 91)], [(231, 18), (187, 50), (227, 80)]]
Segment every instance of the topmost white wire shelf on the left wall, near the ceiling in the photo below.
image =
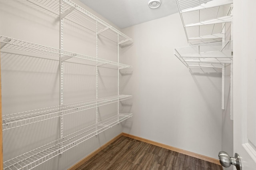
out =
[[(34, 4), (45, 8), (46, 10), (50, 10), (55, 14), (60, 14), (60, 0), (30, 0)], [(117, 34), (119, 35), (118, 44), (122, 43), (133, 43), (132, 38), (129, 38), (124, 33), (120, 32), (110, 24), (104, 22), (100, 18), (91, 14), (78, 4), (75, 4), (71, 0), (63, 0), (63, 13), (61, 14), (62, 18), (70, 20), (84, 28), (87, 28), (93, 32), (96, 32), (96, 24), (98, 26), (97, 34), (101, 34), (110, 40), (117, 42)]]

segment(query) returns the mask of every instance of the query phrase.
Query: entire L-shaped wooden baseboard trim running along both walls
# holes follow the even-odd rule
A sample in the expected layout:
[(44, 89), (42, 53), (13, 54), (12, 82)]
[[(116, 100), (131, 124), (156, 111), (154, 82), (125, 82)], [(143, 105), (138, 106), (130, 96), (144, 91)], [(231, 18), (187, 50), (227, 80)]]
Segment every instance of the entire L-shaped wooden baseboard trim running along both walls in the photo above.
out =
[(173, 150), (175, 152), (179, 152), (181, 154), (185, 154), (185, 155), (188, 155), (188, 156), (192, 156), (194, 158), (198, 158), (198, 159), (202, 159), (202, 160), (205, 160), (205, 161), (208, 161), (208, 162), (212, 162), (214, 164), (218, 164), (220, 165), (220, 162), (218, 159), (214, 159), (214, 158), (210, 158), (208, 156), (204, 156), (204, 155), (200, 155), (200, 154), (196, 154), (194, 152), (190, 152), (190, 151), (187, 151), (187, 150), (183, 150), (183, 149), (179, 149), (179, 148), (175, 148), (175, 147), (172, 147), (172, 146), (168, 146), (166, 144), (162, 144), (162, 143), (158, 143), (158, 142), (155, 142), (155, 141), (152, 141), (152, 140), (148, 140), (148, 139), (145, 139), (145, 138), (141, 138), (141, 137), (138, 137), (138, 136), (134, 136), (132, 134), (128, 134), (128, 133), (120, 133), (118, 134), (116, 137), (112, 138), (110, 141), (108, 141), (106, 144), (100, 146), (100, 148), (98, 148), (97, 150), (95, 150), (94, 152), (92, 152), (91, 154), (89, 154), (88, 156), (86, 156), (85, 158), (83, 158), (82, 160), (80, 160), (79, 162), (77, 162), (76, 164), (74, 164), (73, 166), (71, 166), (68, 170), (76, 170), (76, 168), (78, 168), (79, 166), (81, 166), (82, 164), (84, 164), (86, 161), (88, 161), (90, 158), (92, 158), (94, 155), (98, 154), (98, 152), (102, 151), (104, 148), (106, 148), (108, 145), (110, 145), (112, 142), (114, 142), (115, 140), (117, 140), (118, 138), (120, 138), (121, 136), (126, 136), (126, 137), (129, 137), (129, 138), (133, 138), (133, 139), (136, 139), (136, 140), (140, 140), (142, 142), (146, 142), (146, 143), (149, 143), (149, 144), (153, 144), (155, 146), (159, 146), (159, 147), (162, 147), (162, 148), (165, 148), (165, 149), (168, 149), (168, 150)]

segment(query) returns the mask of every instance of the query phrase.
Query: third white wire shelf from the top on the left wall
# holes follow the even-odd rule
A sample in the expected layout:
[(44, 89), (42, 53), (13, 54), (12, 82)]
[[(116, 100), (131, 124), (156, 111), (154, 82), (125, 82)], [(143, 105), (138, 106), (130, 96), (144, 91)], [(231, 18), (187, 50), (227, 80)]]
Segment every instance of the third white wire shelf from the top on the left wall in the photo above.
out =
[(71, 113), (84, 111), (86, 109), (91, 109), (130, 98), (132, 98), (131, 95), (117, 95), (89, 101), (70, 103), (62, 106), (47, 107), (43, 109), (3, 115), (2, 129), (7, 130), (11, 128), (21, 127), (31, 123), (45, 121), (48, 119), (60, 117), (62, 115), (68, 115)]

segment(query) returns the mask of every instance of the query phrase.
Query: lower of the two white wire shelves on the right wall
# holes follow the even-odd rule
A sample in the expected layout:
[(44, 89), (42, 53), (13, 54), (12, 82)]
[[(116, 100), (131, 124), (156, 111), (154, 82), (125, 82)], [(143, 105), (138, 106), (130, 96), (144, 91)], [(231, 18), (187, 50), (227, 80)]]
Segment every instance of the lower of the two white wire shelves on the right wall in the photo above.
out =
[(174, 49), (174, 55), (186, 67), (222, 68), (224, 63), (231, 63), (233, 41), (190, 45)]

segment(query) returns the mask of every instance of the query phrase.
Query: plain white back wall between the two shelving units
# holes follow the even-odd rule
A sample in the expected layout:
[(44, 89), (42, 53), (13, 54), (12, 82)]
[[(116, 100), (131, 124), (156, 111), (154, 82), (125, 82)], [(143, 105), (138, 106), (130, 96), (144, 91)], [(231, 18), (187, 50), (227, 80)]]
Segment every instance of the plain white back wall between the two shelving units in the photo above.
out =
[(222, 148), (221, 73), (191, 74), (173, 54), (187, 41), (179, 14), (122, 30), (134, 39), (122, 49), (133, 65), (122, 82), (134, 113), (124, 132), (218, 158)]

